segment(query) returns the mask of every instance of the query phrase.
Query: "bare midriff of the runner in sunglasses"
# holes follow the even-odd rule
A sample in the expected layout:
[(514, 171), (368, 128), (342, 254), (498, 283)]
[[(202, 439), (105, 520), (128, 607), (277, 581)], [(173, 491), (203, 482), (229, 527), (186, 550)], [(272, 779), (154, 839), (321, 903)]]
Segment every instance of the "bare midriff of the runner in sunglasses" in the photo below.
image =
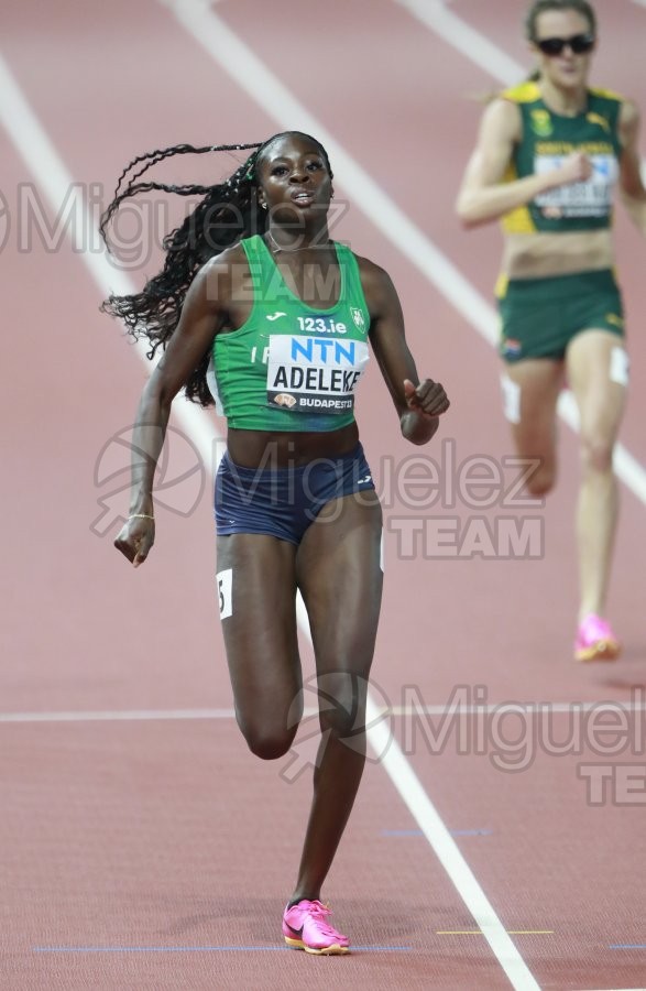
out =
[(510, 279), (572, 275), (612, 269), (614, 263), (610, 230), (505, 235), (502, 271)]

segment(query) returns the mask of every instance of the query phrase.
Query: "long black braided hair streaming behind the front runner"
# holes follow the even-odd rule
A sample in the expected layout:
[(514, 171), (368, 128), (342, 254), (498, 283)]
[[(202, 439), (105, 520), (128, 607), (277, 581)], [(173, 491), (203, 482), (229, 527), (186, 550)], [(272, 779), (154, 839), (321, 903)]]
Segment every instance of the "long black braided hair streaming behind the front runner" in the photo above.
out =
[[(162, 271), (149, 279), (140, 293), (124, 296), (110, 295), (101, 304), (101, 311), (118, 317), (125, 324), (127, 333), (134, 339), (145, 339), (150, 344), (147, 358), (154, 358), (157, 350), (165, 349), (173, 336), (188, 287), (198, 270), (211, 258), (236, 244), (242, 238), (264, 233), (267, 214), (258, 202), (260, 186), (256, 164), (263, 152), (276, 139), (297, 135), (306, 138), (321, 154), (330, 177), (332, 171), (325, 148), (309, 134), (300, 131), (284, 131), (273, 134), (266, 141), (253, 144), (220, 144), (196, 148), (191, 144), (175, 144), (138, 155), (119, 176), (114, 196), (101, 216), (99, 230), (110, 250), (109, 230), (124, 200), (144, 193), (158, 190), (178, 196), (201, 196), (202, 199), (185, 220), (164, 238), (162, 246), (166, 252)], [(212, 152), (240, 152), (253, 149), (252, 153), (229, 178), (212, 186), (169, 185), (152, 182), (142, 176), (154, 165), (184, 154), (210, 154)], [(201, 406), (213, 404), (207, 383), (210, 348), (202, 356), (186, 381), (186, 398)]]

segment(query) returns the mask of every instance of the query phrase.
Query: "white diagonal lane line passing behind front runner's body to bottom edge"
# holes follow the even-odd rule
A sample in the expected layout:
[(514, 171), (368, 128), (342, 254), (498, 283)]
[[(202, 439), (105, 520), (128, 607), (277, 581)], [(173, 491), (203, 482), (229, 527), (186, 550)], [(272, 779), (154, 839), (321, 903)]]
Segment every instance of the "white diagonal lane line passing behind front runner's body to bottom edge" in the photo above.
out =
[[(208, 12), (207, 12), (208, 13)], [(234, 53), (229, 53), (228, 58), (236, 62)], [(236, 73), (237, 78), (244, 78), (244, 66), (240, 64)], [(24, 99), (18, 84), (9, 72), (8, 66), (0, 56), (0, 119), (10, 138), (24, 159), (28, 168), (36, 177), (36, 181), (46, 193), (56, 214), (59, 204), (65, 202), (65, 196), (72, 188), (72, 176), (65, 168), (56, 149), (50, 141), (44, 129)], [(89, 230), (89, 217), (85, 204), (81, 204), (81, 215)], [(118, 285), (118, 280), (112, 266), (103, 254), (81, 253), (81, 259), (88, 265), (92, 277), (100, 291), (106, 292), (107, 286)], [(118, 291), (131, 292), (130, 280), (123, 280)], [(139, 353), (142, 353), (140, 349)], [(175, 404), (176, 413), (185, 422), (189, 436), (196, 446), (206, 466), (210, 461), (210, 453), (213, 440), (217, 437), (213, 426), (208, 417), (190, 403)], [(182, 411), (182, 412), (180, 412)], [(190, 411), (190, 412), (188, 412)], [(195, 412), (194, 412), (195, 411)], [(309, 634), (309, 623), (303, 600), (298, 600), (298, 620), (303, 630)], [(368, 699), (369, 722), (379, 717), (379, 709), (372, 696)], [(464, 904), (471, 912), (478, 927), (484, 934), (493, 954), (497, 958), (502, 969), (510, 979), (512, 985), (518, 991), (539, 991), (535, 978), (523, 960), (515, 944), (508, 936), (504, 925), (496, 916), (484, 892), (475, 880), (471, 869), (464, 860), (459, 847), (435, 810), (430, 799), (424, 792), (421, 784), (413, 769), (402, 754), (394, 739), (384, 738), (384, 733), (392, 736), (383, 723), (377, 723), (369, 731), (369, 740), (375, 753), (383, 751), (384, 742), (390, 744), (383, 758), (383, 766), (391, 780), (395, 783), (402, 798), (415, 816), (420, 829), (424, 831), (437, 857), (442, 863), (449, 878), (460, 893)]]

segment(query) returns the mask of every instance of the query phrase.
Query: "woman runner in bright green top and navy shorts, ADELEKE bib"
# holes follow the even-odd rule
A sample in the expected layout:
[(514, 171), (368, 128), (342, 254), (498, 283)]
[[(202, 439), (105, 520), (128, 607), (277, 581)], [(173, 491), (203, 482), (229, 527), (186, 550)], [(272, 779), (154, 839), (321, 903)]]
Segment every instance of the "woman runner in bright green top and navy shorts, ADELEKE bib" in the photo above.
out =
[(245, 148), (253, 154), (212, 187), (142, 176), (173, 154), (218, 149), (178, 145), (134, 160), (103, 219), (106, 231), (139, 192), (204, 194), (166, 240), (163, 271), (141, 294), (105, 304), (163, 350), (139, 406), (131, 516), (116, 545), (135, 567), (152, 547), (153, 476), (178, 390), (216, 402), (228, 418), (216, 479), (220, 616), (253, 753), (285, 754), (294, 711), (303, 711), (297, 589), (325, 687), (314, 801), (283, 935), (310, 954), (346, 954), (349, 939), (330, 925), (320, 890), (365, 761), (382, 592), (381, 507), (353, 414), (369, 344), (413, 444), (430, 440), (449, 401), (417, 377), (388, 275), (330, 240), (332, 172), (320, 143), (287, 132)]

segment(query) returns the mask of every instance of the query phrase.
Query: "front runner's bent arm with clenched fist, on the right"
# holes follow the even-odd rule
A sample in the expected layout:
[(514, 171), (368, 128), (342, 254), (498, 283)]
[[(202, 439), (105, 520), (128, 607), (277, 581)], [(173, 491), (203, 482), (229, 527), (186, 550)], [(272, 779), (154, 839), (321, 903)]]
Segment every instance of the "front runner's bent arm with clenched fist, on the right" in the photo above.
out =
[(439, 382), (419, 381), (404, 333), (397, 291), (383, 269), (358, 258), (361, 284), (370, 312), (370, 342), (399, 415), (402, 434), (412, 444), (426, 444), (436, 433), (449, 400)]

